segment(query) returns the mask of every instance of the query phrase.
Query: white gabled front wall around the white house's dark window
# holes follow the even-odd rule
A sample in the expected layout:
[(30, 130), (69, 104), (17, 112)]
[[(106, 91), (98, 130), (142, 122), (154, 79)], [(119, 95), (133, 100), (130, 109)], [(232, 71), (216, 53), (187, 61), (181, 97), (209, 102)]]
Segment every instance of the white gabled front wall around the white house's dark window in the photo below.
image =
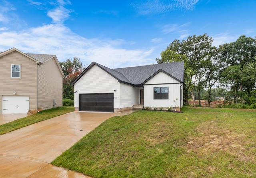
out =
[[(154, 87), (168, 87), (168, 99), (154, 99)], [(148, 107), (181, 107), (181, 85), (174, 78), (159, 72), (144, 84), (144, 106)], [(176, 100), (178, 98), (178, 100)], [(176, 102), (174, 102), (175, 100)]]

